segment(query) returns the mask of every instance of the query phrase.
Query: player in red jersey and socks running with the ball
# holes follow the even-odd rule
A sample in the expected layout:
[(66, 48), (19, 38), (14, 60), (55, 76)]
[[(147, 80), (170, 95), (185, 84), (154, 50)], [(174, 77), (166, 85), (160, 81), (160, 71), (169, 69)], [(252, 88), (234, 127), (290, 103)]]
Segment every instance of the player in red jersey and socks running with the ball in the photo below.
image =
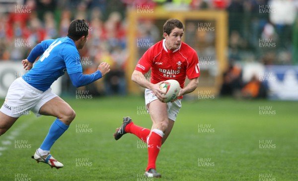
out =
[[(121, 127), (117, 128), (114, 134), (114, 138), (118, 140), (122, 135), (132, 133), (148, 144), (148, 166), (145, 176), (149, 178), (161, 177), (155, 166), (161, 144), (173, 128), (183, 95), (194, 91), (199, 83), (198, 56), (194, 49), (181, 41), (183, 33), (184, 25), (181, 21), (168, 19), (163, 25), (164, 39), (148, 49), (132, 74), (132, 80), (146, 88), (145, 102), (153, 123), (151, 130), (140, 127), (134, 124), (130, 117), (125, 117)], [(150, 68), (149, 82), (144, 74)], [(190, 81), (184, 86), (186, 77)], [(168, 79), (177, 80), (181, 90), (176, 100), (165, 103), (159, 85)]]

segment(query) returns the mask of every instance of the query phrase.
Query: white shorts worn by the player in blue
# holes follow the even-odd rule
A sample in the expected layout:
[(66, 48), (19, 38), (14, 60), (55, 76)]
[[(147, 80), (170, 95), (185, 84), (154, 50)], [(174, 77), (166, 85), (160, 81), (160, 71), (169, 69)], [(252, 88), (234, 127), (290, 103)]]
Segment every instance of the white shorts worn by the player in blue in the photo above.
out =
[(51, 99), (57, 97), (52, 89), (40, 91), (23, 80), (22, 77), (17, 78), (10, 85), (5, 101), (0, 109), (7, 116), (18, 118), (22, 115), (29, 115), (32, 111), (37, 117), (40, 108)]

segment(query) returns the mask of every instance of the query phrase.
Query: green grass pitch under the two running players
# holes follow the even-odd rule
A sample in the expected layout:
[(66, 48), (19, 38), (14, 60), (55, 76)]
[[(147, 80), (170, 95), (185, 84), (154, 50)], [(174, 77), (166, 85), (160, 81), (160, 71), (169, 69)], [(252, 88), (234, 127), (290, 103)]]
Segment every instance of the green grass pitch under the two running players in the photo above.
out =
[(124, 116), (150, 128), (143, 97), (65, 100), (76, 118), (51, 149), (64, 168), (31, 159), (55, 120), (32, 114), (0, 136), (0, 181), (298, 180), (297, 102), (183, 100), (157, 158), (162, 178), (147, 179), (146, 145), (132, 134), (113, 138)]

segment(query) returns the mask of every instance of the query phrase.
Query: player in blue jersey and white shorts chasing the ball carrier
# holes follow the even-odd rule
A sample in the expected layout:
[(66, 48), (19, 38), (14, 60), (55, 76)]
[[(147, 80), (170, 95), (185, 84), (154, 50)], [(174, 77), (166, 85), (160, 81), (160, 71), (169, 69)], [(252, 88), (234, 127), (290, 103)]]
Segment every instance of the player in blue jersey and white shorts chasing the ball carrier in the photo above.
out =
[(29, 71), (10, 85), (0, 109), (0, 135), (29, 111), (36, 116), (56, 117), (43, 143), (32, 156), (37, 162), (44, 162), (52, 168), (59, 169), (63, 164), (54, 159), (50, 149), (75, 117), (71, 106), (51, 91), (52, 83), (67, 71), (73, 85), (80, 87), (94, 82), (110, 71), (110, 65), (102, 62), (94, 73), (82, 74), (77, 50), (84, 47), (88, 31), (88, 23), (76, 19), (71, 22), (67, 37), (44, 40), (36, 45), (28, 58), (22, 60), (24, 68)]

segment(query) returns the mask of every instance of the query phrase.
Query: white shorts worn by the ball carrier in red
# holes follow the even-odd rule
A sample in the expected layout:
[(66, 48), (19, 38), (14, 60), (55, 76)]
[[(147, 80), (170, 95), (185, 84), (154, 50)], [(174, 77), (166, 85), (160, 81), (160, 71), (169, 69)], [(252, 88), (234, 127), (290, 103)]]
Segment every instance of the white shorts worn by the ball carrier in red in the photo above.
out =
[[(156, 99), (158, 99), (155, 94), (153, 93), (153, 91), (151, 91), (150, 89), (145, 89), (145, 104), (146, 107), (147, 105), (152, 102), (155, 101)], [(169, 102), (167, 103), (167, 113), (168, 113), (168, 119), (176, 121), (176, 117), (181, 109), (181, 99), (177, 99), (174, 102)], [(147, 107), (148, 110), (148, 107)]]

